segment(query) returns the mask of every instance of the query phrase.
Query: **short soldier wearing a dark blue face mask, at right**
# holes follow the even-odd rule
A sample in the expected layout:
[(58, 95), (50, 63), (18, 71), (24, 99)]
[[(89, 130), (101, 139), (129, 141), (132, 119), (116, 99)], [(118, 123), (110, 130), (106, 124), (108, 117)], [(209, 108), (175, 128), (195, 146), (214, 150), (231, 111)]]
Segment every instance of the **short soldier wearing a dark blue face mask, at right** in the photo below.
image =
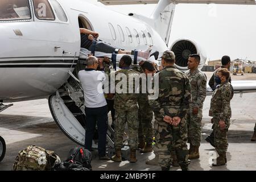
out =
[(227, 132), (230, 126), (231, 107), (230, 100), (233, 98), (233, 87), (228, 82), (230, 73), (228, 69), (221, 68), (217, 76), (221, 84), (216, 87), (210, 100), (209, 116), (213, 117), (214, 145), (218, 152), (217, 163), (213, 166), (222, 166), (226, 163), (226, 151), (228, 150)]

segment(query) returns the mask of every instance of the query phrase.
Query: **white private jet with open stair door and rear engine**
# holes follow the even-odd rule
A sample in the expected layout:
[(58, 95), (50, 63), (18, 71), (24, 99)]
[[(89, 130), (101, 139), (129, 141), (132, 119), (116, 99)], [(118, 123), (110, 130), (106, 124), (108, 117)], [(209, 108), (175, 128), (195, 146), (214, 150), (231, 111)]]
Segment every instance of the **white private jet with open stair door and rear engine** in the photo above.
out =
[[(0, 100), (49, 98), (57, 125), (81, 146), (85, 140), (85, 129), (81, 126), (85, 116), (81, 87), (74, 76), (82, 69), (79, 28), (97, 31), (101, 40), (123, 49), (146, 49), (153, 45), (152, 51), (161, 54), (168, 49), (176, 3), (255, 5), (251, 0), (101, 2), (158, 5), (148, 18), (133, 13), (123, 15), (82, 0), (0, 1)], [(183, 71), (191, 53), (200, 53), (200, 67), (205, 63), (203, 50), (192, 40), (176, 40), (170, 49), (176, 54), (177, 68)]]

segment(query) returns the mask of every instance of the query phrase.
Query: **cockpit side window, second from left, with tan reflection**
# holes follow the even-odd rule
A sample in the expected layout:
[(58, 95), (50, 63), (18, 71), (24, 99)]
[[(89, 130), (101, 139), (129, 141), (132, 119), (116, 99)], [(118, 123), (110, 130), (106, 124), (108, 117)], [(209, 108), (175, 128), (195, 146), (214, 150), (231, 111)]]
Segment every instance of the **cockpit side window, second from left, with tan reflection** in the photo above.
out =
[(51, 5), (47, 0), (34, 0), (36, 18), (41, 20), (55, 20)]

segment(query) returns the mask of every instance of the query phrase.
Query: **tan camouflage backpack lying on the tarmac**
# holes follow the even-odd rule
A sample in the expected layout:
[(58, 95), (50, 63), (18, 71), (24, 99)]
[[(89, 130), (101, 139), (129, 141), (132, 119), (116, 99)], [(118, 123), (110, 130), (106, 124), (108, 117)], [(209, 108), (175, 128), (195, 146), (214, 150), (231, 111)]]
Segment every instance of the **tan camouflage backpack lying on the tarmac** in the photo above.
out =
[(55, 152), (38, 146), (28, 146), (19, 151), (13, 169), (14, 171), (49, 171), (58, 164), (60, 158)]

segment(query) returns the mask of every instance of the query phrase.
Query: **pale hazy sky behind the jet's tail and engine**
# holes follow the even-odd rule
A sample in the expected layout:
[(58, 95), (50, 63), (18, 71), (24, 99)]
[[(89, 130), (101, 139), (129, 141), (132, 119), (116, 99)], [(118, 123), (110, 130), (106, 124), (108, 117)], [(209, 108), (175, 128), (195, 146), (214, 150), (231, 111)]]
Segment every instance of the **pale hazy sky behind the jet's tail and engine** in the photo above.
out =
[[(150, 16), (155, 6), (107, 7), (123, 14), (133, 12)], [(256, 60), (255, 19), (256, 5), (177, 5), (170, 44), (180, 38), (189, 38), (205, 50), (210, 60), (220, 59), (222, 55)]]

